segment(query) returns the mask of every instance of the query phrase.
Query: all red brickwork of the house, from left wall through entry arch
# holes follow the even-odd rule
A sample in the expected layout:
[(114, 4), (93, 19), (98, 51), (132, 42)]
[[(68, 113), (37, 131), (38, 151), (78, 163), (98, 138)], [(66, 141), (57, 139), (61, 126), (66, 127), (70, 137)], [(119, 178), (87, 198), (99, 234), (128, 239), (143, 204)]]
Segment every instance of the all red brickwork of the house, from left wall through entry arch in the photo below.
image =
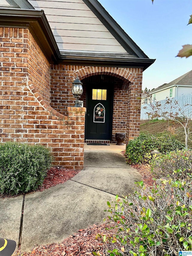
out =
[(113, 78), (113, 141), (116, 132), (138, 136), (142, 69), (52, 65), (49, 92), (50, 66), (29, 29), (0, 28), (0, 46), (0, 142), (41, 143), (54, 164), (82, 169), (85, 108), (71, 108), (76, 74)]

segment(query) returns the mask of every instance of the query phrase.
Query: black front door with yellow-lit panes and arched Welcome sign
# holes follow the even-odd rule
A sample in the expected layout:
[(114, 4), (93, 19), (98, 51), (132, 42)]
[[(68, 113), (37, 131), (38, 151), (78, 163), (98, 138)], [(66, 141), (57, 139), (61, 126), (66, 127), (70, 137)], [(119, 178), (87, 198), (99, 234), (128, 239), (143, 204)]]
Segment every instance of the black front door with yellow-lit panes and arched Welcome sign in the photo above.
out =
[(111, 140), (113, 86), (107, 83), (87, 86), (86, 140)]

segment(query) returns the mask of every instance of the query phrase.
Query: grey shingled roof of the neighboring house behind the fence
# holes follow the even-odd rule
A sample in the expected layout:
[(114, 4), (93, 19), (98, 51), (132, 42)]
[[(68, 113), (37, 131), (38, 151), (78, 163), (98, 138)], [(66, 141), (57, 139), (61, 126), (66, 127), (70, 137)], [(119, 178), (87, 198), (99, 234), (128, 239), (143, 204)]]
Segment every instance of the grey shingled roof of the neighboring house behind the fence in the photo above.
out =
[(182, 75), (181, 77), (176, 78), (175, 80), (171, 81), (170, 83), (164, 83), (163, 85), (159, 86), (158, 88), (152, 90), (150, 94), (155, 93), (157, 91), (164, 90), (166, 88), (169, 88), (173, 85), (186, 85), (192, 86), (192, 70), (187, 72), (186, 74)]

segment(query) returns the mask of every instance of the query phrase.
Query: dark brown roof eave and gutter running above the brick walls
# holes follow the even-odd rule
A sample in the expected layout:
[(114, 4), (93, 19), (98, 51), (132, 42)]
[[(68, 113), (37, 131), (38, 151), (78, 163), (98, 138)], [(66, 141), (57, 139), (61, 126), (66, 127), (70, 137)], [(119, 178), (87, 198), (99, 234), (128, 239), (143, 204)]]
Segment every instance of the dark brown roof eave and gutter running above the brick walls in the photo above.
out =
[(44, 11), (0, 8), (0, 26), (29, 28), (50, 63), (96, 65), (110, 67), (138, 67), (146, 70), (155, 62), (149, 58), (119, 58), (61, 55)]

